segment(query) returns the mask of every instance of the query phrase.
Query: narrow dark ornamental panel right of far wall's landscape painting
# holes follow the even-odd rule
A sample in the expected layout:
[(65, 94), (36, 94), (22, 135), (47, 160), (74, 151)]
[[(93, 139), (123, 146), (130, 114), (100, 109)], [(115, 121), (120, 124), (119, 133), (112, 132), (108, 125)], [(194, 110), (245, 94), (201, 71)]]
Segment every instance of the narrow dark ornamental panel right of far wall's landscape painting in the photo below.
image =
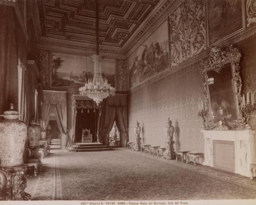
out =
[(128, 90), (128, 70), (127, 61), (122, 59), (116, 60), (116, 90)]

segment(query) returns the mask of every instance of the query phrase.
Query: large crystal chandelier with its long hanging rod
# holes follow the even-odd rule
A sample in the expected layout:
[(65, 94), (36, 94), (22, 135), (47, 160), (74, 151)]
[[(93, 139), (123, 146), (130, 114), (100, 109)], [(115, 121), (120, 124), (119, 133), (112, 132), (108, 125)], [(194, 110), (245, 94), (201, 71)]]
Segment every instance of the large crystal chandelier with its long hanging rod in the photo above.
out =
[(85, 83), (83, 87), (79, 88), (80, 95), (87, 95), (92, 98), (97, 106), (100, 102), (108, 97), (115, 95), (115, 88), (108, 84), (108, 80), (102, 78), (101, 74), (101, 61), (99, 56), (99, 10), (98, 1), (96, 2), (96, 54), (92, 55), (94, 62), (94, 75), (93, 79), (89, 79), (88, 83)]

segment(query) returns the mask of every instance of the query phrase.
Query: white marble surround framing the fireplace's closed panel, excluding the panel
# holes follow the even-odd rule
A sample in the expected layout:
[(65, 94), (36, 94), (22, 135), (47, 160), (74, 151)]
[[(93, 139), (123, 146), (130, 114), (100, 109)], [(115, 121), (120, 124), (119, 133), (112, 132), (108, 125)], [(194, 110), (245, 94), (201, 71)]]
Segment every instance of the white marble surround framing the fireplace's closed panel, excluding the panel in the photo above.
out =
[[(207, 131), (204, 134), (204, 163), (214, 167), (214, 141), (234, 142), (234, 173), (250, 176), (250, 164), (256, 161), (255, 132), (252, 130), (241, 131)], [(225, 152), (225, 155), (230, 153)]]

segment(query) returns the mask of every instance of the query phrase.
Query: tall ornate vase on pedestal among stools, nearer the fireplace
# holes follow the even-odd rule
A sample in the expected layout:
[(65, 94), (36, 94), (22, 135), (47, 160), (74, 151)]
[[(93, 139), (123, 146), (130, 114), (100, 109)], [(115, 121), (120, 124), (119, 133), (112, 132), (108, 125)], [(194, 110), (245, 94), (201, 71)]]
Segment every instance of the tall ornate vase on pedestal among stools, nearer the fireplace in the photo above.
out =
[(166, 150), (163, 153), (163, 158), (166, 158), (168, 160), (174, 160), (176, 159), (176, 154), (174, 151), (174, 141), (173, 141), (173, 136), (174, 136), (174, 126), (172, 125), (172, 121), (170, 118), (168, 118), (168, 121), (166, 122)]

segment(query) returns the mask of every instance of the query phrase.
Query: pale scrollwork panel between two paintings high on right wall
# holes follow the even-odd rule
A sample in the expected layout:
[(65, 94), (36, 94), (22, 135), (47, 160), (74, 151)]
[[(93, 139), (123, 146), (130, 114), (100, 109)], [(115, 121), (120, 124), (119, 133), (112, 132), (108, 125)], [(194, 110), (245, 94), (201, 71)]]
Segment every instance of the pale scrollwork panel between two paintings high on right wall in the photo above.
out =
[(205, 48), (204, 0), (185, 0), (169, 16), (170, 63), (176, 66)]

